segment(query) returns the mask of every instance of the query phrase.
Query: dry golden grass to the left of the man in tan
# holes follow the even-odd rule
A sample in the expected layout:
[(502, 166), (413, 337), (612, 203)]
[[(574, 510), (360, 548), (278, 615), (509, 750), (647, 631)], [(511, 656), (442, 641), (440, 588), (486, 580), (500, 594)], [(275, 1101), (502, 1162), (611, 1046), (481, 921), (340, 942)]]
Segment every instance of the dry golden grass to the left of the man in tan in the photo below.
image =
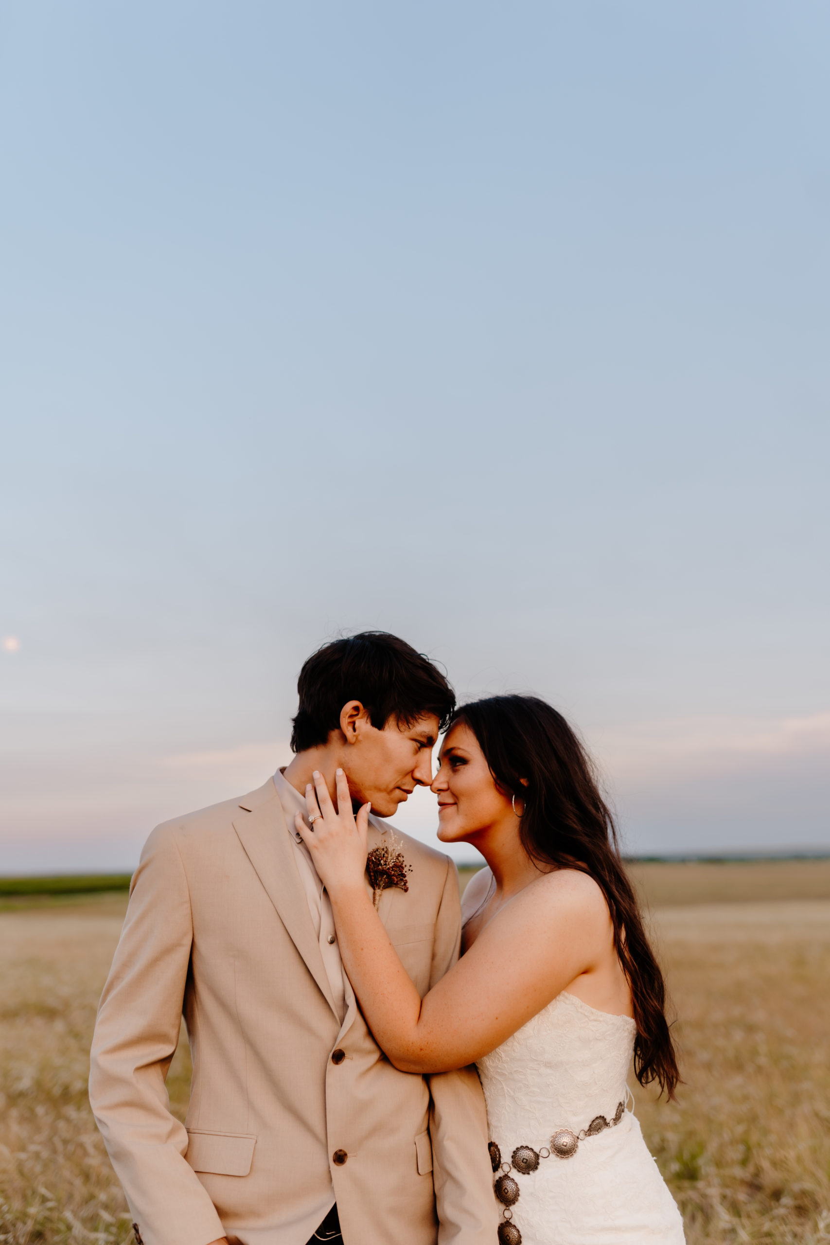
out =
[[(126, 898), (0, 914), (0, 1240), (132, 1241), (87, 1102), (88, 1048)], [(187, 1043), (168, 1088), (180, 1113)], [(182, 1118), (184, 1118), (182, 1116)]]

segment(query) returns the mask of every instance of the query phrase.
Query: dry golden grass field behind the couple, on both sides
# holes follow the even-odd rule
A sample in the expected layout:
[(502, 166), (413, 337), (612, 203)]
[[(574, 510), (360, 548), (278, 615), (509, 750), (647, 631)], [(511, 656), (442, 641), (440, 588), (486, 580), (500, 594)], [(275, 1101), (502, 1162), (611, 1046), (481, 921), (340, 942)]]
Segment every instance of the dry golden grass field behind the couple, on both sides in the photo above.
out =
[[(669, 1106), (638, 1089), (637, 1114), (687, 1240), (830, 1241), (830, 862), (633, 872), (686, 1081)], [(86, 1101), (126, 898), (70, 898), (0, 913), (0, 1240), (10, 1245), (129, 1236)], [(168, 1078), (180, 1118), (188, 1084), (183, 1042)]]

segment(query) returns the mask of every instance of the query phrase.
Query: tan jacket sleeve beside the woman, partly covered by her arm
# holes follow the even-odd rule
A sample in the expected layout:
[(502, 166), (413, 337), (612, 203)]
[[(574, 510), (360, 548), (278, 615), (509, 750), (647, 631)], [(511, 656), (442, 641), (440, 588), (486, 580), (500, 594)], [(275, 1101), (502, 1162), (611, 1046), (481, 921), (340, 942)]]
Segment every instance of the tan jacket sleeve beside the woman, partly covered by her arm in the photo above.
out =
[[(432, 987), (458, 959), (462, 913), (458, 874), (447, 862), (447, 880), (436, 923)], [(429, 1079), (429, 1133), (438, 1211), (438, 1245), (493, 1245), (498, 1206), (487, 1149), (487, 1109), (474, 1067)]]

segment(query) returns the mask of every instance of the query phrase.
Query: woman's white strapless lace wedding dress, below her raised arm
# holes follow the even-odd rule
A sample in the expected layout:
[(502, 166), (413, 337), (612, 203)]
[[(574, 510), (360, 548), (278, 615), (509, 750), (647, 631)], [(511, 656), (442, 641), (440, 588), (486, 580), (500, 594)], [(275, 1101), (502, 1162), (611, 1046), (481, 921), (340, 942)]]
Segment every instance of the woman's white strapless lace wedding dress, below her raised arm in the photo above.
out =
[[(519, 1191), (503, 1220), (513, 1226), (499, 1230), (506, 1245), (683, 1245), (679, 1211), (640, 1124), (631, 1112), (617, 1113), (628, 1097), (635, 1033), (627, 1016), (596, 1011), (565, 992), (478, 1061), (490, 1154), (513, 1165), (515, 1185), (503, 1191)], [(549, 1150), (556, 1130), (579, 1137), (599, 1116), (611, 1127), (579, 1139), (571, 1157), (551, 1153), (535, 1170), (526, 1170), (533, 1154), (514, 1163), (518, 1147)], [(567, 1135), (557, 1143), (574, 1144)]]

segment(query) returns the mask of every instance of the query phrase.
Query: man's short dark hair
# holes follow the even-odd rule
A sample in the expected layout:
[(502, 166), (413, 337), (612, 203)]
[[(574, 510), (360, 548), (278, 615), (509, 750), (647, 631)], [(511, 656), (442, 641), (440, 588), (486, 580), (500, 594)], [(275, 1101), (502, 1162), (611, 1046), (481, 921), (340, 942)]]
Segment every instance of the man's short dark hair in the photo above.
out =
[(340, 727), (343, 705), (351, 700), (361, 702), (378, 730), (391, 717), (412, 726), (426, 713), (434, 713), (444, 730), (455, 708), (455, 693), (442, 672), (388, 631), (361, 631), (324, 644), (302, 666), (297, 695), (294, 752), (326, 743), (329, 732)]

